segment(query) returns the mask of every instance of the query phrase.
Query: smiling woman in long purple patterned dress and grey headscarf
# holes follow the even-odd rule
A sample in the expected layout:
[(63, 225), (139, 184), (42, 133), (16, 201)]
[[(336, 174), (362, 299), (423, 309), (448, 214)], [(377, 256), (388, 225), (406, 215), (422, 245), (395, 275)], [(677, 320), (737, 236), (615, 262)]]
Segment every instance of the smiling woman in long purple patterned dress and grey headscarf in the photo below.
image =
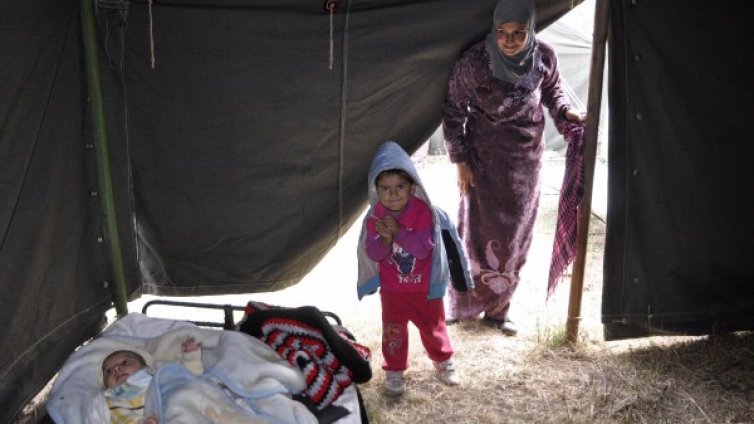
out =
[(531, 0), (500, 0), (492, 31), (453, 70), (443, 111), (450, 161), (458, 167), (458, 229), (475, 288), (450, 289), (448, 320), (484, 320), (513, 336), (508, 317), (539, 206), (544, 107), (561, 131), (584, 122), (560, 87), (553, 48), (534, 34)]

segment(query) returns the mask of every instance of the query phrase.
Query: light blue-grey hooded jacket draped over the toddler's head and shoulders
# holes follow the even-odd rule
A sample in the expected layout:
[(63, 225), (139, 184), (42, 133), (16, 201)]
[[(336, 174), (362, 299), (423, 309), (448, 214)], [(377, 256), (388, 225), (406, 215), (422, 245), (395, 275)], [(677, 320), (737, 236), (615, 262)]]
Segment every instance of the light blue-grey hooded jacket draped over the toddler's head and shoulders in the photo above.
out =
[(367, 256), (365, 240), (367, 221), (374, 216), (375, 205), (379, 201), (375, 180), (380, 172), (388, 169), (401, 169), (407, 172), (416, 183), (414, 195), (423, 200), (432, 211), (435, 247), (432, 250), (432, 269), (427, 298), (442, 298), (445, 295), (448, 282), (461, 292), (473, 288), (474, 283), (469, 273), (468, 259), (455, 224), (444, 210), (430, 202), (411, 157), (400, 145), (393, 141), (387, 141), (377, 149), (369, 167), (367, 178), (369, 210), (362, 221), (359, 243), (356, 249), (359, 261), (356, 291), (359, 299), (375, 293), (380, 287), (379, 263)]

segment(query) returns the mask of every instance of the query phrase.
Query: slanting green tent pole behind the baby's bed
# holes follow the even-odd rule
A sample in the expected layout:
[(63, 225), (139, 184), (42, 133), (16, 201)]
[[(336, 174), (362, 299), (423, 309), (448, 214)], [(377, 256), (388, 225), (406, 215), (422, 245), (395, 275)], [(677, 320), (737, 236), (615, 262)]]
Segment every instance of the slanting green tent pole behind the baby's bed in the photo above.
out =
[(118, 225), (115, 214), (112, 176), (110, 175), (110, 153), (107, 144), (107, 125), (102, 96), (102, 77), (99, 70), (97, 41), (94, 25), (94, 0), (81, 0), (81, 33), (84, 42), (84, 66), (89, 103), (92, 111), (92, 127), (97, 159), (97, 178), (100, 186), (100, 202), (105, 214), (105, 242), (112, 264), (111, 285), (115, 311), (118, 316), (128, 313), (126, 302), (126, 278), (123, 271), (123, 256), (118, 238)]

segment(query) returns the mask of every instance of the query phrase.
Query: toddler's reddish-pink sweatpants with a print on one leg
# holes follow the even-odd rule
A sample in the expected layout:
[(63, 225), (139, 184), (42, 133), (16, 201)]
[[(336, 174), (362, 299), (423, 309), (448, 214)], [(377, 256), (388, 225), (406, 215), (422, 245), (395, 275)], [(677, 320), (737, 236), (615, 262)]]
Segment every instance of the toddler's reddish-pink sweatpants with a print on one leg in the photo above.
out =
[(396, 293), (380, 290), (382, 301), (382, 356), (386, 371), (408, 368), (408, 322), (419, 330), (429, 359), (442, 362), (453, 356), (445, 327), (442, 299), (427, 299), (426, 293)]

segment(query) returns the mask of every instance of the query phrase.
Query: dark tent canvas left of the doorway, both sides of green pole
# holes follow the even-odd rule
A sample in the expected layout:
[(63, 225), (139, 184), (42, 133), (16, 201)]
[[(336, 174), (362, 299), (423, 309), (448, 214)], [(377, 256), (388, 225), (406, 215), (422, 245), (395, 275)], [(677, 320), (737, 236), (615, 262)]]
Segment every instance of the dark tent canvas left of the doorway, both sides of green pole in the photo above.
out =
[[(450, 67), (493, 4), (97, 2), (128, 296), (294, 284), (363, 205), (374, 148), (416, 148), (437, 126)], [(542, 4), (543, 22), (567, 10)], [(79, 4), (0, 7), (5, 421), (104, 324), (113, 234)]]

